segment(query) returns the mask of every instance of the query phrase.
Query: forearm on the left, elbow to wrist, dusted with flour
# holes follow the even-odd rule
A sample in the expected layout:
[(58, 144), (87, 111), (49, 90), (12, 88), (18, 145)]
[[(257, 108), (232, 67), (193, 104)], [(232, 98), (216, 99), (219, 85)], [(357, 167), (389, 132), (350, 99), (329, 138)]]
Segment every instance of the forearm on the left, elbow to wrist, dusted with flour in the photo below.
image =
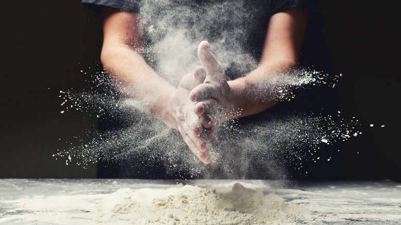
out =
[(105, 43), (102, 64), (111, 80), (140, 110), (177, 128), (175, 123), (174, 88), (161, 79), (135, 49), (118, 43)]

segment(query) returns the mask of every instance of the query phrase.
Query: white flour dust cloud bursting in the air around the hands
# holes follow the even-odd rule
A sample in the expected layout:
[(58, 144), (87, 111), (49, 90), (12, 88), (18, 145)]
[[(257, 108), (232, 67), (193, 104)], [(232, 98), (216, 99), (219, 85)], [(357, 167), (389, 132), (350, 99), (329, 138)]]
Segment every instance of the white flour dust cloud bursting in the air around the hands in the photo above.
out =
[[(178, 6), (180, 2), (180, 6)], [(210, 43), (211, 51), (227, 68), (228, 79), (245, 76), (258, 66), (246, 36), (254, 18), (242, 1), (200, 4), (188, 1), (127, 1), (126, 9), (138, 7), (144, 18), (147, 45), (144, 58), (162, 78), (177, 86), (180, 79), (200, 65), (197, 47)], [(251, 52), (251, 53), (249, 53)], [(264, 83), (270, 98), (291, 101), (299, 90), (316, 86), (334, 87), (339, 77), (309, 68), (276, 74)], [(97, 133), (86, 134), (92, 141), (58, 149), (54, 155), (83, 166), (106, 159), (111, 162), (158, 161), (167, 174), (185, 171), (190, 177), (285, 179), (282, 161), (330, 160), (319, 157), (320, 146), (357, 136), (358, 120), (343, 119), (340, 113), (318, 115), (286, 112), (265, 114), (248, 123), (230, 120), (220, 125), (212, 139), (212, 162), (205, 165), (186, 146), (179, 133), (143, 113), (143, 102), (126, 99), (118, 84), (98, 72), (87, 90), (61, 91), (61, 113), (80, 110), (100, 120)], [(292, 88), (288, 88), (292, 87)], [(79, 138), (78, 138), (79, 139)], [(78, 160), (79, 159), (79, 160)], [(296, 165), (302, 167), (302, 165)], [(292, 170), (292, 169), (291, 169)], [(302, 173), (302, 172), (300, 172)]]

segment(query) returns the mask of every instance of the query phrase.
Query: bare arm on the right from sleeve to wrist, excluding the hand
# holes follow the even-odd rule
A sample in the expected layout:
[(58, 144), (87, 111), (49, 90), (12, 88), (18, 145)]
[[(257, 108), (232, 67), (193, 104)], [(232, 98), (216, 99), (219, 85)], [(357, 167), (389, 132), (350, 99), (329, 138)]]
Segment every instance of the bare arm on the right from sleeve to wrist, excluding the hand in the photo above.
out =
[(231, 106), (236, 110), (232, 117), (260, 113), (282, 100), (290, 89), (283, 78), (290, 78), (290, 71), (299, 65), (306, 24), (307, 16), (301, 9), (271, 17), (259, 67), (228, 82), (233, 92)]

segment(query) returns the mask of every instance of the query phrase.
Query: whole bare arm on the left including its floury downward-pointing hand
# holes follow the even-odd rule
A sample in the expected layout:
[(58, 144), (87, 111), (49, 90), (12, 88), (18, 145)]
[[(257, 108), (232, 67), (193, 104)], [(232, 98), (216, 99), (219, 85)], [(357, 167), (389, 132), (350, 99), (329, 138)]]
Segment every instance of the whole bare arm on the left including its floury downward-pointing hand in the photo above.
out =
[(202, 133), (200, 120), (194, 114), (195, 103), (189, 100), (193, 85), (205, 79), (202, 72), (195, 70), (178, 88), (173, 87), (160, 78), (139, 53), (144, 32), (140, 15), (102, 7), (102, 21), (101, 61), (121, 94), (137, 101), (137, 107), (144, 113), (177, 129), (191, 151), (209, 163), (208, 138)]

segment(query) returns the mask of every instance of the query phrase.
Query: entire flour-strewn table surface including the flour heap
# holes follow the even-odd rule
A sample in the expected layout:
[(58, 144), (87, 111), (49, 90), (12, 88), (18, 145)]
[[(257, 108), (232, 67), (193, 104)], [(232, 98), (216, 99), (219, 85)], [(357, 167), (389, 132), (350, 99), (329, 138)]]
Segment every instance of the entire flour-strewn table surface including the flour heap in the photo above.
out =
[(0, 179), (0, 193), (0, 224), (401, 224), (391, 181)]

